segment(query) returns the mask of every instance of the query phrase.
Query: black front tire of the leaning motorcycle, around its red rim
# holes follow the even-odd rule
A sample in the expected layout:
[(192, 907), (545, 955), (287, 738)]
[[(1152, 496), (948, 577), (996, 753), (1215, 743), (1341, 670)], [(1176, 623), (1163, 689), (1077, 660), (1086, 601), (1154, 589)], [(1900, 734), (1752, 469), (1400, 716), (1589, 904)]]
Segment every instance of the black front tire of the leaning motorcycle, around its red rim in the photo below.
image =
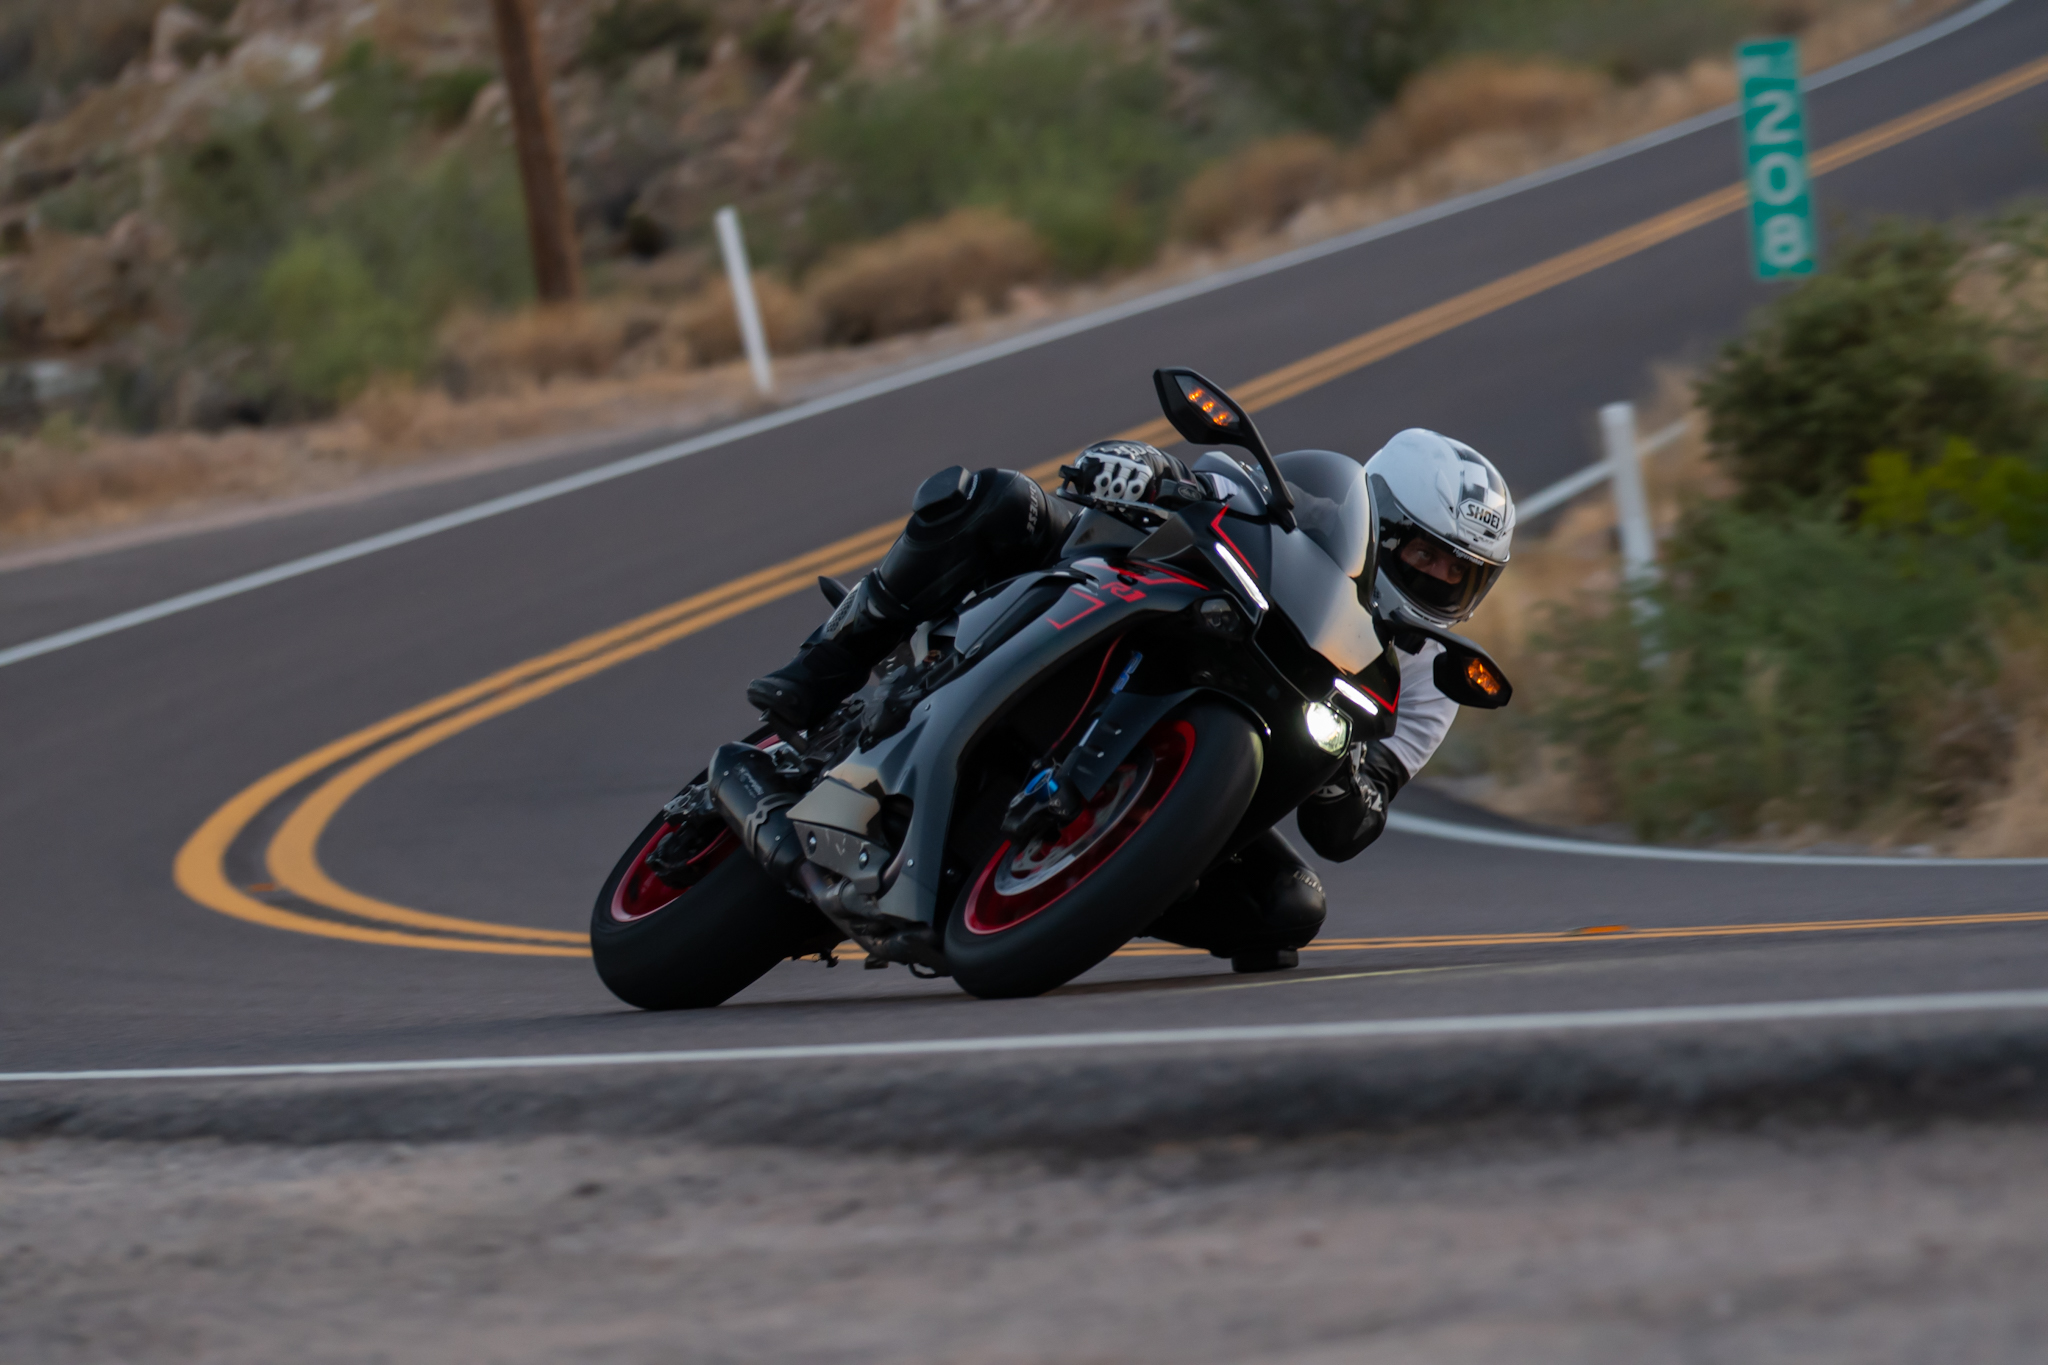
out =
[[(1184, 763), (1163, 778), (1176, 743), (1186, 745)], [(1155, 724), (1073, 825), (979, 860), (946, 919), (952, 978), (983, 999), (1044, 995), (1108, 958), (1202, 874), (1200, 851), (1237, 829), (1262, 763), (1257, 731), (1221, 702), (1194, 702)], [(1118, 792), (1126, 780), (1137, 794)], [(1049, 876), (1069, 855), (1069, 837), (1094, 843), (1065, 845), (1079, 851)]]

